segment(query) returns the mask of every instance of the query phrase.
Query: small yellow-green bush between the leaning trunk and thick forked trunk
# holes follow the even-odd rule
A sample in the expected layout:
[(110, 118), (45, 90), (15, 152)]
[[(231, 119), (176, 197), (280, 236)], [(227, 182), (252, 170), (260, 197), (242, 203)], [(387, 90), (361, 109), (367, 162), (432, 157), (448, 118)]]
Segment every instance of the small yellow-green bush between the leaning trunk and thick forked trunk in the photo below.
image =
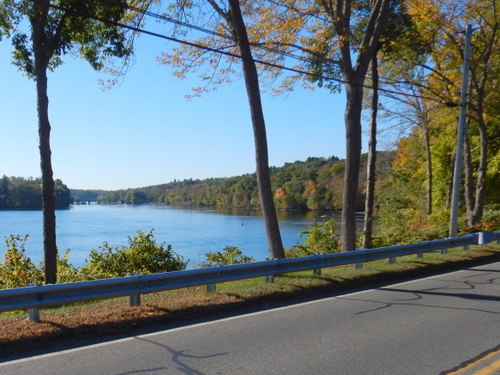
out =
[(315, 254), (331, 254), (339, 251), (339, 238), (335, 231), (335, 219), (314, 224), (300, 233), (305, 235), (303, 244), (294, 245), (286, 250), (288, 258), (304, 257)]

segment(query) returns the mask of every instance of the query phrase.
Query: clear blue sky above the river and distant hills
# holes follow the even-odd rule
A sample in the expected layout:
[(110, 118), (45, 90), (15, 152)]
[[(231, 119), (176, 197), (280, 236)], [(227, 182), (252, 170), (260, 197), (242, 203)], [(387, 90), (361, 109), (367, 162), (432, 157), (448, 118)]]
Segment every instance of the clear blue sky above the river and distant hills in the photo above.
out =
[[(83, 60), (64, 58), (49, 75), (54, 177), (70, 188), (121, 189), (174, 179), (227, 177), (255, 170), (244, 83), (192, 101), (198, 77), (179, 80), (156, 58), (174, 44), (147, 35), (117, 86), (103, 91)], [(35, 85), (0, 42), (0, 176), (40, 175)], [(344, 94), (297, 88), (263, 95), (270, 165), (309, 156), (345, 156)], [(366, 152), (366, 146), (363, 146)]]

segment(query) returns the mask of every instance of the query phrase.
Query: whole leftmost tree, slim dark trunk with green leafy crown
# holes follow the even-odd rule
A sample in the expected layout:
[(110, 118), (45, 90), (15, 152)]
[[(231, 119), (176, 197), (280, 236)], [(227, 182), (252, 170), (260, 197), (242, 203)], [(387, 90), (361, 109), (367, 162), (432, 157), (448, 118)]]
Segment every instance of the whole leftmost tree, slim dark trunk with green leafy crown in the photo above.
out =
[(97, 70), (111, 56), (129, 55), (131, 49), (126, 35), (115, 26), (126, 12), (125, 0), (0, 2), (0, 26), (4, 27), (4, 32), (12, 35), (14, 63), (36, 83), (46, 283), (55, 283), (57, 275), (47, 71), (62, 64), (61, 57), (70, 51), (77, 51)]

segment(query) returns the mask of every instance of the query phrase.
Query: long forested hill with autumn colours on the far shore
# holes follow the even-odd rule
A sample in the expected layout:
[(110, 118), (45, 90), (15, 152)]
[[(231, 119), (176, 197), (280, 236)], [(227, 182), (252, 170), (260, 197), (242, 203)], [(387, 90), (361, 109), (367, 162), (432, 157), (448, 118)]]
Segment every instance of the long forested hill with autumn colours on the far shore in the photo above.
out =
[[(391, 170), (393, 153), (377, 154), (379, 181)], [(362, 156), (359, 209), (364, 205), (366, 154)], [(278, 208), (331, 210), (342, 205), (344, 160), (310, 157), (305, 161), (271, 167), (271, 183)], [(255, 174), (229, 178), (173, 181), (137, 189), (117, 190), (99, 194), (101, 203), (160, 203), (170, 205), (258, 207)]]

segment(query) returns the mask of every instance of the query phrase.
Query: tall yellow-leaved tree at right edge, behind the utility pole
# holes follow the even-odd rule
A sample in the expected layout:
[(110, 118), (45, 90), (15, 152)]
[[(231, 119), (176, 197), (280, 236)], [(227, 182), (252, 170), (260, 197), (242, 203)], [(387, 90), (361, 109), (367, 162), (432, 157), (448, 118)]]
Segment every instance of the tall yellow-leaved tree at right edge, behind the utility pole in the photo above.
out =
[(439, 93), (447, 103), (457, 105), (464, 56), (464, 38), (460, 32), (467, 24), (476, 29), (470, 61), (469, 129), (465, 152), (467, 220), (469, 225), (476, 225), (482, 219), (491, 186), (489, 181), (498, 173), (494, 165), (489, 167), (489, 160), (495, 160), (498, 154), (495, 141), (498, 139), (498, 106), (494, 104), (498, 102), (499, 91), (497, 4), (487, 0), (419, 0), (413, 5), (413, 17), (420, 28), (431, 31), (434, 36), (431, 59), (424, 64), (429, 72), (428, 96)]

